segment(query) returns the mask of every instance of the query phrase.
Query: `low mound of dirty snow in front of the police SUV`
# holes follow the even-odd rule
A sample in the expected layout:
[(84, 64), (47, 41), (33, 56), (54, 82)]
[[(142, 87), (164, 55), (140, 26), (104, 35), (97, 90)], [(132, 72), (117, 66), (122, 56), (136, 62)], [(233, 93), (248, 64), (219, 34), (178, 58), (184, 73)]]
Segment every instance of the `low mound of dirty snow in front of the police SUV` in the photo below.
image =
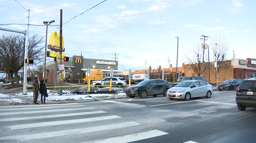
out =
[[(98, 87), (91, 86), (90, 87), (90, 92), (105, 92), (105, 91), (107, 92), (107, 91), (109, 91), (109, 89), (110, 89), (110, 87), (98, 88)], [(111, 90), (114, 91), (115, 93), (124, 93), (125, 92), (124, 88), (118, 88), (118, 87), (112, 87)], [(88, 87), (84, 86), (84, 87), (81, 87), (81, 88), (75, 88), (72, 91), (73, 92), (87, 93)]]

